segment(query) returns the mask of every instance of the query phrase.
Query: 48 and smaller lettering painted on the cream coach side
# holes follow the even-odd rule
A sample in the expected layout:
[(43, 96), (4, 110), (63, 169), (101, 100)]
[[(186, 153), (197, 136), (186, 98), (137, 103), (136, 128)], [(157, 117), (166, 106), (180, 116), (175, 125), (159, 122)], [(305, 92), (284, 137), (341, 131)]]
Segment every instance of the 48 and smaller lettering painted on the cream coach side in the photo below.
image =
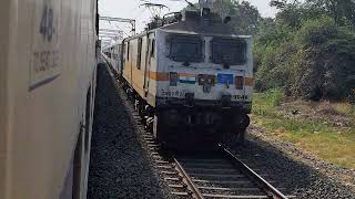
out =
[(30, 90), (34, 90), (60, 75), (59, 25), (61, 1), (36, 1), (32, 20), (30, 60)]

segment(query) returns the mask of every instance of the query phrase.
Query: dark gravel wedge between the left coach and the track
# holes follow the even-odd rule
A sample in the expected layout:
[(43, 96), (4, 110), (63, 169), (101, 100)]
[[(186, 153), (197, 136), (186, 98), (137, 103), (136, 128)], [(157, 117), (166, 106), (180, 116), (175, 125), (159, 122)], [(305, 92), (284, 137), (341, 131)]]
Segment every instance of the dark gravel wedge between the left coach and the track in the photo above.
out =
[(170, 196), (142, 148), (104, 65), (98, 67), (88, 186), (89, 199)]

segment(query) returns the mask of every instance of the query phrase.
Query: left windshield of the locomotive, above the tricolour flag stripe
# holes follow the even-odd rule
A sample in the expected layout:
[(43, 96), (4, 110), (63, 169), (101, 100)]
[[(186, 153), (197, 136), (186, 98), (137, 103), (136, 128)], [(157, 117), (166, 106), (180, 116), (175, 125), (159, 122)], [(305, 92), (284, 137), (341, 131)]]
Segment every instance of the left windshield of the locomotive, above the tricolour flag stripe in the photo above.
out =
[(170, 57), (176, 62), (201, 62), (202, 39), (199, 36), (174, 35), (171, 40)]

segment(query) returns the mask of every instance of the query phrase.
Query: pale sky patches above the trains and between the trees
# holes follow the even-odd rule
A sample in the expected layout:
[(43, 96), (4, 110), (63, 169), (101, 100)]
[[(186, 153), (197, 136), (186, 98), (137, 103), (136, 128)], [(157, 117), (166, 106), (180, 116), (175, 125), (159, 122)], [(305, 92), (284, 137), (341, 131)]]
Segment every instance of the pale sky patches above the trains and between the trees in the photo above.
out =
[[(190, 2), (197, 2), (199, 0), (190, 0)], [(276, 10), (268, 6), (271, 0), (248, 0), (251, 4), (255, 6), (261, 12), (262, 17), (275, 17)], [(187, 3), (183, 0), (149, 0), (153, 3), (163, 3), (170, 8), (163, 9), (162, 13), (180, 11)], [(136, 32), (141, 32), (146, 22), (150, 21), (152, 13), (149, 9), (140, 7), (144, 3), (143, 0), (99, 0), (100, 15), (115, 17), (115, 18), (129, 18), (136, 20)], [(122, 29), (124, 30), (124, 36), (128, 36), (130, 24), (128, 23), (114, 23), (114, 22), (101, 22), (101, 28), (104, 29)]]

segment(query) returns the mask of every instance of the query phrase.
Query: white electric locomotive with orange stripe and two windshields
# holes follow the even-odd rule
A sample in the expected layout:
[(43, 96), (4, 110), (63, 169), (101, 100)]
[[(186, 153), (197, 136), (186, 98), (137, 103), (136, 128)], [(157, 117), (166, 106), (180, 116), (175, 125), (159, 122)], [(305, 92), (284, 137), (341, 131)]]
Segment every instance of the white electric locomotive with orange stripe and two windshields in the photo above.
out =
[(229, 20), (210, 9), (186, 11), (123, 40), (120, 81), (159, 142), (243, 142), (252, 108), (252, 36), (235, 34)]

